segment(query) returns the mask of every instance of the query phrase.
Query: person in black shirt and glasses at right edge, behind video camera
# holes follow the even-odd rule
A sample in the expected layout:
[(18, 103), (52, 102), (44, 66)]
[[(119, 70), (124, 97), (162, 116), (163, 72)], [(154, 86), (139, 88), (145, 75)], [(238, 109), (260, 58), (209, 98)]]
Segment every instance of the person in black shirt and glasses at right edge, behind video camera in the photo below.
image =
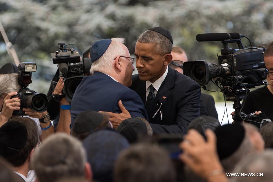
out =
[(268, 85), (248, 94), (242, 112), (249, 114), (261, 111), (273, 121), (273, 42), (268, 45), (264, 52), (264, 63), (267, 70)]

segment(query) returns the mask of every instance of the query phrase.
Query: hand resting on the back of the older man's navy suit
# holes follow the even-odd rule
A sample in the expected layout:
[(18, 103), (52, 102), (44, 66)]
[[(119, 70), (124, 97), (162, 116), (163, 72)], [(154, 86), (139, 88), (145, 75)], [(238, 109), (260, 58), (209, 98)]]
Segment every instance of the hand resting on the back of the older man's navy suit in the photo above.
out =
[(99, 111), (100, 113), (105, 113), (109, 116), (109, 121), (112, 123), (114, 129), (117, 129), (118, 125), (123, 120), (131, 118), (130, 113), (127, 111), (121, 101), (118, 101), (118, 106), (121, 110), (121, 113)]

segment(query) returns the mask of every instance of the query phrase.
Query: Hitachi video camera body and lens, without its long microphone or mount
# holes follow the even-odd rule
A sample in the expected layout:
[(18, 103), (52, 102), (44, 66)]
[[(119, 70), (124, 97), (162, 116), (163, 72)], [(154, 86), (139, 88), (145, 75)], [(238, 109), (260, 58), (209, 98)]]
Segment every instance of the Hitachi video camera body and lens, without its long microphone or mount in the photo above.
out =
[(183, 72), (199, 85), (207, 85), (211, 79), (219, 78), (223, 87), (245, 84), (263, 84), (266, 79), (264, 64), (265, 48), (228, 48), (227, 43), (240, 39), (222, 41), (226, 44), (218, 56), (219, 64), (207, 64), (206, 61), (188, 61), (183, 64)]

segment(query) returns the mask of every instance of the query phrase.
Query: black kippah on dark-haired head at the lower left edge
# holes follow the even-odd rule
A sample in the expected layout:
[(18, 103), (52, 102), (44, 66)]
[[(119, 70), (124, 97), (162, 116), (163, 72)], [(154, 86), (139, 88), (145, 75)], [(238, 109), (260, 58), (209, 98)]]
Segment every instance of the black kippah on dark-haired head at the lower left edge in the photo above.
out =
[(17, 121), (8, 121), (0, 127), (0, 155), (4, 158), (18, 154), (26, 145), (26, 127)]

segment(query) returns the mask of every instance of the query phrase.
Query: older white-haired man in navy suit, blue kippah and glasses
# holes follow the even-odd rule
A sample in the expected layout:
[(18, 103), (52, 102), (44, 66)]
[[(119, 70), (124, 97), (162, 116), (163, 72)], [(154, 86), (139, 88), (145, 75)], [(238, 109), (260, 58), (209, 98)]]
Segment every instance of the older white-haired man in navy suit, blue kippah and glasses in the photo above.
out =
[[(84, 77), (71, 103), (71, 127), (80, 112), (93, 110), (129, 112), (132, 117), (148, 119), (145, 106), (138, 94), (129, 89), (135, 58), (130, 57), (124, 39), (102, 39), (90, 50), (92, 76)], [(121, 111), (124, 105), (128, 111)], [(116, 128), (118, 124), (113, 123)]]

